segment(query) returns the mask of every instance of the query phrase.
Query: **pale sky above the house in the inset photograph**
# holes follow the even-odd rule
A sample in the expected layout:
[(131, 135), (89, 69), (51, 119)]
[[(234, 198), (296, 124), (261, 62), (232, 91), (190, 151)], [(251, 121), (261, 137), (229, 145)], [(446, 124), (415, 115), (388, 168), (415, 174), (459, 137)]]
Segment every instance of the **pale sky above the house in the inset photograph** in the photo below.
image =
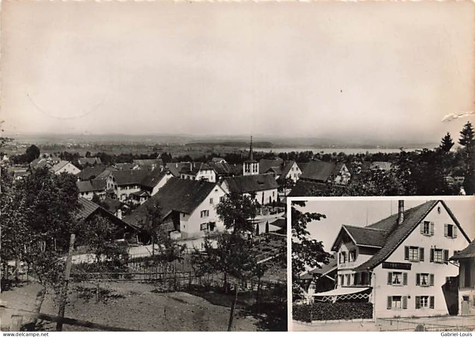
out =
[[(340, 199), (340, 198), (339, 198)], [(364, 198), (363, 198), (364, 199)], [(475, 198), (474, 197), (444, 197), (442, 198), (466, 232), (475, 240)], [(407, 210), (431, 199), (411, 197), (404, 202)], [(323, 241), (324, 250), (330, 252), (332, 244), (341, 229), (342, 224), (366, 226), (382, 220), (398, 212), (398, 200), (318, 200), (309, 201), (302, 209), (303, 212), (325, 214), (326, 218), (313, 221), (307, 225), (310, 237)], [(468, 246), (468, 243), (467, 243)]]

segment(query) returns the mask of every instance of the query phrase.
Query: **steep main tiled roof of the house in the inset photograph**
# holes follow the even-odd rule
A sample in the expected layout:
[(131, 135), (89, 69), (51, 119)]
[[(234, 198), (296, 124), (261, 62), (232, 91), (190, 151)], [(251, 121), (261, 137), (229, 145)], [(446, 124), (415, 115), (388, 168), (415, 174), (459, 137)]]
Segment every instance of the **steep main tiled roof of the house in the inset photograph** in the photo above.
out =
[(367, 226), (367, 228), (387, 231), (388, 235), (386, 237), (384, 246), (373, 256), (371, 256), (369, 260), (362, 263), (355, 270), (371, 270), (379, 265), (382, 261), (386, 260), (390, 254), (396, 250), (396, 248), (398, 248), (404, 240), (406, 240), (409, 234), (418, 227), (420, 221), (422, 221), (439, 202), (445, 207), (446, 211), (456, 223), (462, 234), (466, 237), (467, 241), (470, 242), (468, 236), (460, 227), (460, 224), (456, 220), (454, 214), (447, 207), (447, 204), (443, 200), (430, 200), (404, 211), (404, 221), (402, 221), (400, 225), (398, 224), (398, 214), (396, 213)]

